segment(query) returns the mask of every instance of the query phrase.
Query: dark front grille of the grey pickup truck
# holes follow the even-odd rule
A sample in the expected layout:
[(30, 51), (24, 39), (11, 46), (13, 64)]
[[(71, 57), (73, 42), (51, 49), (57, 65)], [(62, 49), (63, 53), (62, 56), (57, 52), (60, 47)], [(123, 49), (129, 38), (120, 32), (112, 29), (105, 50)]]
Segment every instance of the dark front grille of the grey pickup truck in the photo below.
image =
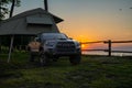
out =
[(75, 52), (75, 44), (73, 42), (58, 42), (56, 50), (62, 53)]

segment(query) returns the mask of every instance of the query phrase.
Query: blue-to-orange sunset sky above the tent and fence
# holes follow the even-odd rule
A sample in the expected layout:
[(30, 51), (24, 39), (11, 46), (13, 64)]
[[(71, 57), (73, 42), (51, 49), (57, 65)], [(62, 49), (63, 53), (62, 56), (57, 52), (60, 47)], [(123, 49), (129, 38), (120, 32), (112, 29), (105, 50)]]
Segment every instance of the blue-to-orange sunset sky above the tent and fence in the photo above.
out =
[[(132, 0), (48, 0), (48, 7), (64, 19), (61, 32), (76, 40), (132, 40)], [(21, 0), (14, 14), (35, 8), (43, 0)]]

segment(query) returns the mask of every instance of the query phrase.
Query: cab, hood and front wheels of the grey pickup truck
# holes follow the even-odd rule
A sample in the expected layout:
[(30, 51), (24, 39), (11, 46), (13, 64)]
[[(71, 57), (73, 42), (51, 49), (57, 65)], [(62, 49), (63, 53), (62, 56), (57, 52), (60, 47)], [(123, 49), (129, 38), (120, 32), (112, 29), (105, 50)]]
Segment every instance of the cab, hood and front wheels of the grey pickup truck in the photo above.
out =
[(41, 43), (42, 65), (47, 65), (51, 59), (57, 61), (62, 56), (68, 56), (73, 65), (81, 61), (80, 43), (64, 33), (41, 33), (37, 35), (37, 41)]

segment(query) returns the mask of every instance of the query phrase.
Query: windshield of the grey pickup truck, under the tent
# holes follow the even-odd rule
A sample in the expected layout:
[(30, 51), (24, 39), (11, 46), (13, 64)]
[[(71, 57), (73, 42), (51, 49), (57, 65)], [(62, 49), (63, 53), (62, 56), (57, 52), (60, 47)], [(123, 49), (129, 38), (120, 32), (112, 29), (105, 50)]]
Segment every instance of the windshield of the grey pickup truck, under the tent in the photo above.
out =
[(62, 33), (44, 33), (42, 34), (42, 40), (66, 40), (68, 38), (65, 34)]

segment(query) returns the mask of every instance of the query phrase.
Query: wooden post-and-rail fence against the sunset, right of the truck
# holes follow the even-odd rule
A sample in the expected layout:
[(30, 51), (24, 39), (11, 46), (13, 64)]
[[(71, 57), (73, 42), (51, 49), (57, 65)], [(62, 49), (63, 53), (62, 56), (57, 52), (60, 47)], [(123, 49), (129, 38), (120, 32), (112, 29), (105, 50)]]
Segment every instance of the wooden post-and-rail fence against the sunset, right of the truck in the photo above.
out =
[(112, 51), (112, 44), (113, 43), (132, 43), (132, 41), (96, 41), (96, 42), (81, 42), (80, 44), (95, 44), (95, 43), (105, 43), (108, 44), (107, 50), (82, 50), (82, 51), (102, 51), (102, 52), (108, 52), (108, 56), (111, 56), (111, 53), (132, 53), (132, 51)]

